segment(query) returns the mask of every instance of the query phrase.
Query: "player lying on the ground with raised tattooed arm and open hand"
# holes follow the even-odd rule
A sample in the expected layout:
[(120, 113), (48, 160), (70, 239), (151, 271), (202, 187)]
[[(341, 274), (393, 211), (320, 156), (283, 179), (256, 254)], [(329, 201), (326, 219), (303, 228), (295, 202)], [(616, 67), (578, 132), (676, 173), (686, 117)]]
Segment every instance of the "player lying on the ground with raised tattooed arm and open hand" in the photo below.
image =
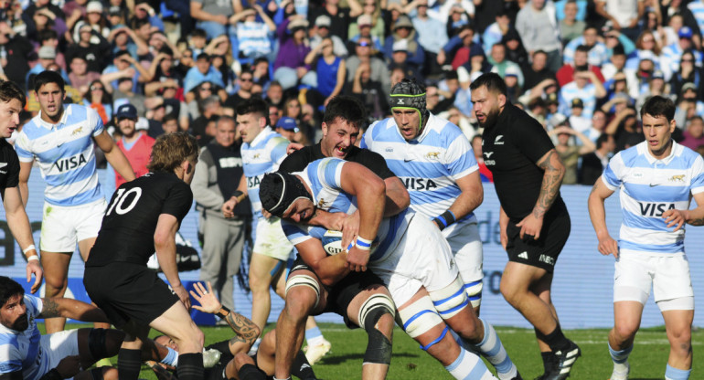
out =
[[(212, 368), (206, 368), (204, 378), (207, 380), (229, 380), (233, 378), (239, 380), (258, 380), (266, 379), (267, 376), (273, 375), (274, 344), (276, 342), (275, 330), (267, 332), (264, 335), (259, 350), (257, 350), (254, 356), (250, 356), (247, 353), (261, 334), (256, 323), (251, 322), (250, 319), (240, 313), (229, 311), (222, 306), (215, 296), (215, 293), (213, 293), (210, 282), (208, 282), (207, 290), (200, 282), (197, 282), (194, 288), (195, 291), (191, 290), (190, 293), (200, 305), (193, 305), (193, 308), (197, 311), (217, 314), (220, 318), (228, 322), (229, 327), (231, 327), (232, 331), (236, 334), (229, 340), (214, 343), (207, 347), (208, 351), (218, 350), (220, 356), (218, 364), (215, 364)], [(156, 337), (155, 342), (161, 343), (178, 352), (178, 345), (174, 340), (169, 339), (165, 335)], [(176, 378), (171, 375), (170, 372), (166, 371), (165, 366), (156, 364), (155, 362), (150, 362), (149, 364), (158, 377), (162, 379)], [(291, 370), (292, 374), (300, 379), (315, 380), (315, 374), (311, 368), (311, 364), (308, 363), (302, 351), (299, 351), (296, 355)]]

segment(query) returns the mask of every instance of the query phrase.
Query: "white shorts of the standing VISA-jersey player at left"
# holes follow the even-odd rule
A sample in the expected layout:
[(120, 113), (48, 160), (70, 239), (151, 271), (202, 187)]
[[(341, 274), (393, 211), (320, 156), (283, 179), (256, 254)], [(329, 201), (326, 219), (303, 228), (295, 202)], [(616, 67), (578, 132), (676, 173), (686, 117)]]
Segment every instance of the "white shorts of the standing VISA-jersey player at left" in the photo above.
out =
[(44, 203), (39, 248), (47, 252), (73, 252), (79, 241), (97, 237), (105, 215), (105, 199), (81, 206)]

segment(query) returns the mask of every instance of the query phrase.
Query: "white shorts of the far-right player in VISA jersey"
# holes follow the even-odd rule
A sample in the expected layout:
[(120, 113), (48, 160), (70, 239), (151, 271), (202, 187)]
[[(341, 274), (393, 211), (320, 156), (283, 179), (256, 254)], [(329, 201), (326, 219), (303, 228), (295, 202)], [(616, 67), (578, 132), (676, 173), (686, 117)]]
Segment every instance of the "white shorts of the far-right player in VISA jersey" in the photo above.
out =
[[(689, 276), (687, 255), (648, 255), (647, 253), (621, 252), (614, 264), (613, 301), (643, 303), (650, 296), (661, 311), (694, 310), (694, 290)], [(683, 302), (673, 300), (685, 299)], [(676, 308), (664, 305), (677, 305)]]

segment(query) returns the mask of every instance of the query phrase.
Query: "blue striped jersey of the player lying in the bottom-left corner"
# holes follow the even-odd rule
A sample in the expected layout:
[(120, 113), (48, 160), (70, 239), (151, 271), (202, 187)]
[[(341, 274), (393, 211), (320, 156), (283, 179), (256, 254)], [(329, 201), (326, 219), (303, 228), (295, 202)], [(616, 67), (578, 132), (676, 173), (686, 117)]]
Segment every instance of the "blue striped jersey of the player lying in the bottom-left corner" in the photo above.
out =
[(25, 294), (29, 327), (24, 332), (8, 329), (0, 324), (0, 375), (22, 371), (26, 379), (38, 378), (46, 374), (49, 361), (44, 360), (48, 353), (43, 353), (39, 346), (41, 335), (35, 318), (42, 311), (40, 298)]

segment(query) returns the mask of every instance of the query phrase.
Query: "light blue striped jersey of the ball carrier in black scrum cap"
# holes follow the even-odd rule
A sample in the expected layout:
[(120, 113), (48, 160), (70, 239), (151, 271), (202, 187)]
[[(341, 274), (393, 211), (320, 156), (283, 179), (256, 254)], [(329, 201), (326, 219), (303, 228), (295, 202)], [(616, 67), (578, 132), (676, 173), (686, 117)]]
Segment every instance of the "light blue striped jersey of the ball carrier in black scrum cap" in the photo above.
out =
[[(342, 189), (342, 167), (345, 163), (344, 160), (327, 157), (308, 164), (303, 172), (294, 173), (303, 178), (304, 183), (313, 192), (313, 203), (321, 210), (346, 214), (357, 210), (357, 197), (346, 194)], [(406, 209), (396, 216), (381, 220), (377, 237), (372, 243), (374, 250), (369, 256), (369, 261), (389, 257), (399, 245), (413, 215), (413, 211)], [(310, 238), (322, 239), (326, 231), (324, 227), (305, 226), (287, 219), (282, 219), (282, 227), (283, 233), (293, 245)]]

